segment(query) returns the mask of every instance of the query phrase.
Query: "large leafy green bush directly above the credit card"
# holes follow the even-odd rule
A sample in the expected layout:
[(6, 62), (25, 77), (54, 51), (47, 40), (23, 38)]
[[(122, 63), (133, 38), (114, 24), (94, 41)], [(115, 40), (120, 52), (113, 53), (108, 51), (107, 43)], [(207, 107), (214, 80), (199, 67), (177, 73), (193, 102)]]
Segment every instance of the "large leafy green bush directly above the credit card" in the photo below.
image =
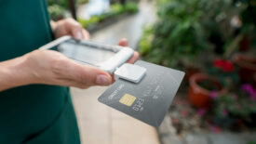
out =
[(152, 30), (151, 46), (141, 47), (146, 49), (142, 50), (144, 59), (176, 68), (195, 63), (196, 57), (208, 47), (200, 23), (203, 11), (198, 3), (199, 0), (161, 0), (158, 3), (159, 19)]

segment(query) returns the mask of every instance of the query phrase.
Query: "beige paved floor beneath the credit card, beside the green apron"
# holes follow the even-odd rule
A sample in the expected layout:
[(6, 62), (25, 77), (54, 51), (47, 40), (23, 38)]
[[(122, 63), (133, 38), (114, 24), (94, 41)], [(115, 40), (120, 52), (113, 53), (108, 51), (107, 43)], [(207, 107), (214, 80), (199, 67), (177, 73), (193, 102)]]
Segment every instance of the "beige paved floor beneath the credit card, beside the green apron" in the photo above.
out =
[(71, 89), (82, 143), (158, 144), (154, 127), (98, 102), (106, 88)]

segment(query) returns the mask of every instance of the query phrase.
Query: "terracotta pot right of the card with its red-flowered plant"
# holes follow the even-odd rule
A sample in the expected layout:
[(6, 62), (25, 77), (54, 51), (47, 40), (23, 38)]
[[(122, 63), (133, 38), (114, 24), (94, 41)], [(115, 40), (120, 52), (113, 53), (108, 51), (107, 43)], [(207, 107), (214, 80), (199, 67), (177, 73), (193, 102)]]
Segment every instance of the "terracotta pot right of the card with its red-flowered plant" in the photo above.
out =
[(208, 74), (198, 73), (190, 80), (189, 101), (198, 108), (209, 107), (211, 93), (224, 93), (224, 89), (230, 89), (237, 84), (238, 78), (235, 67), (230, 60), (215, 59), (212, 65), (206, 66)]

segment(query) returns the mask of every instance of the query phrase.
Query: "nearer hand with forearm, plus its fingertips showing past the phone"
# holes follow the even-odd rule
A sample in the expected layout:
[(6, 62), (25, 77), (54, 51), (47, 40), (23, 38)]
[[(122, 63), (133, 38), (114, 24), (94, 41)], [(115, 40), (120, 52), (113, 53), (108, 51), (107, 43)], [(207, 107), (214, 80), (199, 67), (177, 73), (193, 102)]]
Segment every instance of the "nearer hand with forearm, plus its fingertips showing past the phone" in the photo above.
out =
[[(120, 46), (128, 46), (122, 39)], [(128, 60), (134, 63), (138, 52)], [(34, 50), (22, 57), (0, 62), (0, 91), (20, 85), (47, 84), (88, 88), (91, 85), (111, 85), (109, 73), (81, 65), (51, 50)]]

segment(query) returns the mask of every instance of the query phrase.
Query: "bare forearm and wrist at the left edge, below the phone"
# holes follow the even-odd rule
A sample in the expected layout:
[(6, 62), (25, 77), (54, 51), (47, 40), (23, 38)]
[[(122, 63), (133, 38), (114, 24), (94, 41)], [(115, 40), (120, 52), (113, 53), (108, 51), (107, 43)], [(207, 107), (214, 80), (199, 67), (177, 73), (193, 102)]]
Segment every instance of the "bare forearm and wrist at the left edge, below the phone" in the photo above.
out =
[(30, 70), (25, 66), (26, 57), (0, 62), (0, 92), (33, 82)]

